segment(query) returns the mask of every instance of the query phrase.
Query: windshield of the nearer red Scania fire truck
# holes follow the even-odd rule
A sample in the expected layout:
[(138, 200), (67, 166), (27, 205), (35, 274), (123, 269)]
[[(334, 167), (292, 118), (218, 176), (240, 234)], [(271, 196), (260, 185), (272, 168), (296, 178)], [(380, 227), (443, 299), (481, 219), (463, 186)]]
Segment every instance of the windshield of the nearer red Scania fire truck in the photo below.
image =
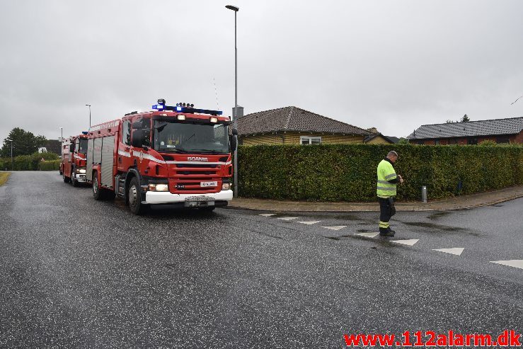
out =
[(162, 152), (226, 154), (229, 152), (227, 125), (156, 120), (154, 149)]

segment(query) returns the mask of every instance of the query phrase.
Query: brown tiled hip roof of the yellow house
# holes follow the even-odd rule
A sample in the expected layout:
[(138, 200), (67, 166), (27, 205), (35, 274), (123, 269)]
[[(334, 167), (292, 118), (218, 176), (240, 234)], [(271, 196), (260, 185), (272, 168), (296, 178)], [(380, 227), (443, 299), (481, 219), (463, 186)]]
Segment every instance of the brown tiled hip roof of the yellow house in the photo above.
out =
[(297, 107), (260, 111), (238, 119), (238, 135), (241, 136), (279, 131), (326, 132), (364, 136), (372, 134), (360, 127)]

